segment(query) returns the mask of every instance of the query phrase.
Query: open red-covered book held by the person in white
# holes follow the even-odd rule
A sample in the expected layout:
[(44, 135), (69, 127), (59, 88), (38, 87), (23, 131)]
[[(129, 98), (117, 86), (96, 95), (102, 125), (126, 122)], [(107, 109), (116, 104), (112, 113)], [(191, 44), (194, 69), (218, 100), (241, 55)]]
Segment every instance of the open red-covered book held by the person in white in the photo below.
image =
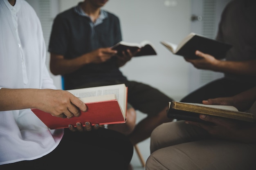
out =
[(126, 122), (127, 87), (125, 84), (68, 90), (79, 97), (87, 106), (79, 117), (70, 119), (55, 117), (42, 110), (31, 108), (34, 114), (50, 129), (76, 127), (76, 122), (85, 126), (86, 121), (94, 124), (119, 124)]

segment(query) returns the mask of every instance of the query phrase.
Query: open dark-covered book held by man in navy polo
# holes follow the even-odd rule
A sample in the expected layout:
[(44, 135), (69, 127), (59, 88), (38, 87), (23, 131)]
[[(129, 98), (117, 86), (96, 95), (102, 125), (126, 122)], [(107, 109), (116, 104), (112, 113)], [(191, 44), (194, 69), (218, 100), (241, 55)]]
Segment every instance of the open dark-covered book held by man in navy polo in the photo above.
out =
[(126, 51), (127, 49), (130, 49), (131, 52), (135, 52), (138, 49), (140, 51), (135, 55), (135, 57), (144, 56), (144, 55), (157, 55), (155, 52), (155, 48), (153, 47), (153, 44), (151, 44), (149, 41), (142, 41), (141, 43), (130, 43), (130, 42), (124, 42), (120, 41), (119, 43), (115, 44), (111, 47), (113, 50), (117, 50), (117, 54), (121, 55), (122, 51)]

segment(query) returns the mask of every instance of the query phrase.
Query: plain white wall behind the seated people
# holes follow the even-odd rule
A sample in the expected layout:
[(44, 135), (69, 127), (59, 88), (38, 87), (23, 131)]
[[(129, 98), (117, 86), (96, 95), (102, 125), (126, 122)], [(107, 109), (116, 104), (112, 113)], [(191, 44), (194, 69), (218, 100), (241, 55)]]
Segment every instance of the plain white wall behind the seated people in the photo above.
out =
[[(59, 2), (63, 11), (80, 1)], [(150, 84), (176, 100), (186, 95), (188, 64), (159, 41), (178, 43), (190, 33), (191, 0), (109, 0), (103, 8), (119, 17), (124, 41), (149, 40), (157, 51), (157, 56), (133, 58), (121, 68), (124, 75)]]

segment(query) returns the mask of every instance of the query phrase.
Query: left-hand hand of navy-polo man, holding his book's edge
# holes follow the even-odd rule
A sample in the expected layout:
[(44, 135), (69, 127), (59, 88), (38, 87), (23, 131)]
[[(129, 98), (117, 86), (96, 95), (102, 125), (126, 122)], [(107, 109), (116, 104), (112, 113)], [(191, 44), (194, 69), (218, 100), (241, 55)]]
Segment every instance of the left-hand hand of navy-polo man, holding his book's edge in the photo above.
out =
[(102, 63), (109, 60), (112, 56), (116, 55), (117, 51), (112, 50), (111, 48), (100, 48), (92, 51), (86, 55), (86, 60), (89, 60), (88, 63)]

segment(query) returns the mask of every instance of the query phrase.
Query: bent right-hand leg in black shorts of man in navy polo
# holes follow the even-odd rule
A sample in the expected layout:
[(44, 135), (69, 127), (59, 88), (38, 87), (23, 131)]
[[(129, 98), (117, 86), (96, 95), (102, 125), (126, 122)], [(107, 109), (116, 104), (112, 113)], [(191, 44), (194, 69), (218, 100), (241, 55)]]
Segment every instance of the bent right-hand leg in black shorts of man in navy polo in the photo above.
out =
[(128, 136), (133, 145), (150, 137), (151, 132), (160, 124), (173, 121), (166, 115), (168, 102), (172, 99), (162, 92), (139, 82), (126, 82), (128, 87), (128, 102), (148, 116), (141, 120)]

